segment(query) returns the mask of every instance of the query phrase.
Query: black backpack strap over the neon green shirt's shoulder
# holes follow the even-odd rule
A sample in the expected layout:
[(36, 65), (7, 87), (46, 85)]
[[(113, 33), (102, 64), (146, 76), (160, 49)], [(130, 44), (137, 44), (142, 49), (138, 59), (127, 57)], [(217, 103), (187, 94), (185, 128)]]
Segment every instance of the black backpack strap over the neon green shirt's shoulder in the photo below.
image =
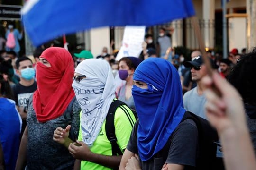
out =
[(120, 105), (126, 105), (126, 104), (122, 101), (114, 100), (110, 105), (110, 109), (106, 117), (106, 125), (105, 125), (106, 136), (111, 143), (113, 156), (123, 154), (117, 144), (116, 129), (114, 124), (115, 112)]

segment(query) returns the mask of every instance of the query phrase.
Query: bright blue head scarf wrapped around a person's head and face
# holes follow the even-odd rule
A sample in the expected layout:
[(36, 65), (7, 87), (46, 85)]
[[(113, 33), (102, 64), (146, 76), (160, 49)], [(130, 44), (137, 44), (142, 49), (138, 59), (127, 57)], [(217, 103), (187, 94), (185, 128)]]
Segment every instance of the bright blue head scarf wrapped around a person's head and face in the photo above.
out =
[(144, 60), (135, 70), (133, 80), (148, 85), (148, 89), (132, 87), (139, 119), (138, 153), (142, 161), (147, 161), (165, 146), (183, 118), (182, 87), (176, 68), (161, 58)]

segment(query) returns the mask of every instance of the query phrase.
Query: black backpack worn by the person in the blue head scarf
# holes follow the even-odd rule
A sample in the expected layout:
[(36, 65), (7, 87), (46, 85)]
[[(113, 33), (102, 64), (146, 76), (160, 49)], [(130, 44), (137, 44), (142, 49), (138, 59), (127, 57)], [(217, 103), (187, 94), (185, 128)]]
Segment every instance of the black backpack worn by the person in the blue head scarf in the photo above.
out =
[[(196, 161), (196, 170), (222, 170), (222, 158), (216, 157), (219, 137), (215, 128), (211, 127), (208, 120), (187, 111), (182, 121), (192, 119), (198, 130), (199, 155)], [(181, 121), (181, 122), (182, 122)]]

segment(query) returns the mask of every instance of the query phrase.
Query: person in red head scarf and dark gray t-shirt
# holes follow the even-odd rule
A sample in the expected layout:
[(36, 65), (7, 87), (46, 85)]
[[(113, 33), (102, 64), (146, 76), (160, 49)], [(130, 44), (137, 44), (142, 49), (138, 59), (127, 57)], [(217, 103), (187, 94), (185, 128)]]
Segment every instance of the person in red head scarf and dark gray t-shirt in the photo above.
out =
[[(74, 158), (61, 144), (53, 141), (56, 127), (71, 124), (70, 136), (75, 140), (79, 131), (79, 104), (72, 88), (74, 63), (64, 48), (50, 47), (39, 57), (36, 69), (37, 90), (30, 97), (27, 127), (21, 139), (16, 169), (70, 170)], [(72, 110), (69, 105), (71, 105)], [(66, 119), (72, 111), (72, 121)]]

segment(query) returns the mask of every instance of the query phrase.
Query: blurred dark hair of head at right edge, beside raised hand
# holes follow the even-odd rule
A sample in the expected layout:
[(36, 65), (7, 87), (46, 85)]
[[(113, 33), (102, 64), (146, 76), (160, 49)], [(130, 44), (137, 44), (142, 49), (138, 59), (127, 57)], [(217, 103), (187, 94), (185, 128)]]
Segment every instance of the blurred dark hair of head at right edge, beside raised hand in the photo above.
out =
[(228, 80), (235, 86), (244, 102), (256, 106), (256, 48), (240, 57)]

